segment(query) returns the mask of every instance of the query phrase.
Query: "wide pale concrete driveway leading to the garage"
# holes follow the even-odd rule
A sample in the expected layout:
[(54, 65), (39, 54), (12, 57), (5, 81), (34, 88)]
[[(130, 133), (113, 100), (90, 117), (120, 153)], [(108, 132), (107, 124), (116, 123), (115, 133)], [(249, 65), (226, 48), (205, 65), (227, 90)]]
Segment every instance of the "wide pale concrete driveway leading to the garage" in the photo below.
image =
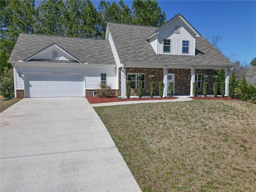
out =
[(85, 98), (25, 98), (0, 114), (1, 191), (141, 191)]

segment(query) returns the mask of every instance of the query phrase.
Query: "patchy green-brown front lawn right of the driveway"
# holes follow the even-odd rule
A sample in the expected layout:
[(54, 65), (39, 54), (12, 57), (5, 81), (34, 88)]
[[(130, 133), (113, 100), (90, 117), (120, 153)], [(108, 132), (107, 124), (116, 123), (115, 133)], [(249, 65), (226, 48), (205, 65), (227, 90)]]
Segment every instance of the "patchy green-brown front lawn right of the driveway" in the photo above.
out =
[(256, 191), (256, 105), (193, 100), (94, 108), (143, 192)]

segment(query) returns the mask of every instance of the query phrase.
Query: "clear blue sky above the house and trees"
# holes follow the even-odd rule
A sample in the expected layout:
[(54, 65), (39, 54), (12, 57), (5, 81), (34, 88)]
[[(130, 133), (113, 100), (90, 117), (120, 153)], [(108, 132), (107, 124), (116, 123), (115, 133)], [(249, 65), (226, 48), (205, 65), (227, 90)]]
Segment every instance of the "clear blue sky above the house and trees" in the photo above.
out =
[[(256, 0), (157, 1), (166, 21), (180, 13), (204, 38), (221, 36), (218, 46), (224, 55), (247, 64), (256, 57)], [(132, 8), (132, 0), (124, 4)]]

